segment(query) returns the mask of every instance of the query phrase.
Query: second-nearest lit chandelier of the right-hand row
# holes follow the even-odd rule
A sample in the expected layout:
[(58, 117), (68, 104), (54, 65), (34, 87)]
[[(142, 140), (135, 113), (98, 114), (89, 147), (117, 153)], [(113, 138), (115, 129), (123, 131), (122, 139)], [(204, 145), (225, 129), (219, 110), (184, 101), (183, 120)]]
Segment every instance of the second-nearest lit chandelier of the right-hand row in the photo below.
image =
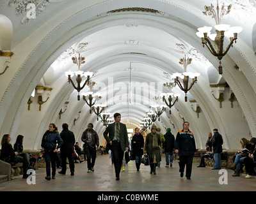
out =
[[(187, 66), (188, 64), (191, 64), (192, 58), (186, 59), (183, 57), (180, 59), (179, 63), (184, 66), (184, 73), (173, 73), (174, 83), (179, 85), (180, 89), (185, 92), (185, 101), (188, 101), (187, 92), (193, 87), (193, 85), (197, 82), (197, 77), (200, 75), (200, 73), (192, 73), (187, 72)], [(179, 78), (182, 79), (182, 84), (179, 81)], [(190, 85), (188, 85), (189, 78), (192, 79), (192, 82)]]

